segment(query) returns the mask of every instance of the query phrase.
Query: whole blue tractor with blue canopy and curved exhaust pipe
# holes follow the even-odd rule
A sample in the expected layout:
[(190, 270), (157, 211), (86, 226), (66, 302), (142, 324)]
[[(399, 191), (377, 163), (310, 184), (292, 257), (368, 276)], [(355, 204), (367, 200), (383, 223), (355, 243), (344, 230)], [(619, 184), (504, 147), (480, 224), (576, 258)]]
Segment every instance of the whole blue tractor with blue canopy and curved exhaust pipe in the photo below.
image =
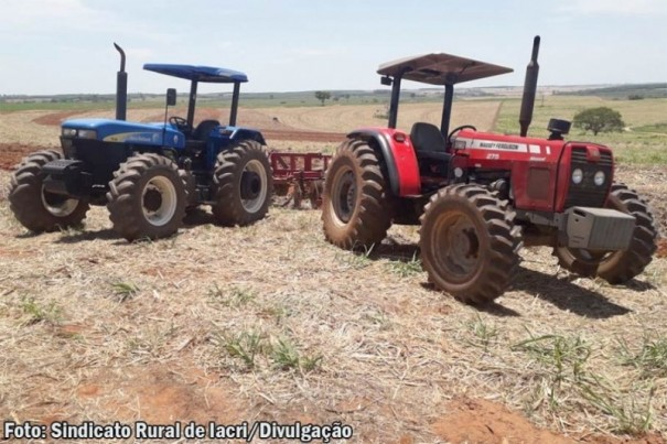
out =
[[(63, 152), (23, 159), (10, 185), (10, 207), (34, 232), (76, 226), (90, 205), (106, 205), (114, 229), (129, 241), (175, 234), (186, 212), (211, 205), (224, 226), (252, 224), (267, 214), (273, 188), (265, 139), (236, 126), (244, 73), (209, 66), (146, 64), (144, 69), (191, 82), (187, 116), (171, 116), (175, 89), (166, 91), (164, 121), (126, 121), (127, 73), (120, 53), (116, 119), (63, 122)], [(200, 83), (233, 84), (228, 124), (195, 126)]]

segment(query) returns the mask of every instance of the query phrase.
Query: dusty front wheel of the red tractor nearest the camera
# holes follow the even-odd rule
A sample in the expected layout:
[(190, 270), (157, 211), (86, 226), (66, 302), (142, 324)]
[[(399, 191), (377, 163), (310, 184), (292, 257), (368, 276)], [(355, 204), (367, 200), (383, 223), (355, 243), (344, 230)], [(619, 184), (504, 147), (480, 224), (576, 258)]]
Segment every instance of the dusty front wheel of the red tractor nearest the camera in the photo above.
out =
[(421, 216), (419, 247), (429, 282), (458, 300), (485, 304), (514, 281), (521, 247), (515, 213), (486, 188), (450, 185)]

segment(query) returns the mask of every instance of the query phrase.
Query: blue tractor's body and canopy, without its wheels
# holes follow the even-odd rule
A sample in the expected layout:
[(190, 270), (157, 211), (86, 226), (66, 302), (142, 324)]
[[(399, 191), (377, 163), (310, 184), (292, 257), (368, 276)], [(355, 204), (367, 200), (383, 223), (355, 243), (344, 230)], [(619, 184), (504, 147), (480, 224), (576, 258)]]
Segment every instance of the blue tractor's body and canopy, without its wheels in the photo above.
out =
[[(78, 196), (93, 193), (96, 194), (93, 201), (104, 203), (114, 172), (121, 163), (137, 154), (155, 153), (168, 156), (179, 169), (194, 176), (198, 201), (209, 202), (218, 154), (245, 140), (266, 145), (260, 131), (236, 126), (239, 88), (241, 83), (248, 82), (248, 76), (238, 71), (213, 66), (151, 63), (143, 65), (143, 68), (190, 80), (187, 115), (168, 118), (169, 107), (176, 104), (175, 89), (170, 89), (166, 94), (165, 120), (162, 122), (130, 122), (122, 120), (122, 117), (66, 120), (61, 133), (65, 154), (63, 162), (78, 165), (77, 169), (67, 170), (67, 174), (76, 173), (80, 177), (64, 177), (63, 173), (63, 181), (67, 178), (79, 184), (79, 188), (74, 191)], [(197, 86), (202, 82), (233, 85), (229, 121), (226, 124), (217, 120), (195, 124)], [(116, 115), (125, 116), (118, 110), (126, 109), (127, 104), (121, 100), (127, 97), (127, 83), (119, 83), (117, 89)]]

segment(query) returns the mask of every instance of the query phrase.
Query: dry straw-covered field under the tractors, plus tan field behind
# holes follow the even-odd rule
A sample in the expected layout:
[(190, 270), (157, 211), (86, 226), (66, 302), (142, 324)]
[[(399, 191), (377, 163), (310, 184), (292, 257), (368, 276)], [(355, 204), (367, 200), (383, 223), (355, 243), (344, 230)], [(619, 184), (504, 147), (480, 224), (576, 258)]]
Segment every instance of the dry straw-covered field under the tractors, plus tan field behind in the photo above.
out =
[[(378, 109), (252, 109), (239, 121), (292, 134), (268, 137), (271, 148), (331, 151), (344, 131), (383, 124)], [(401, 111), (402, 128), (440, 118), (431, 105)], [(498, 102), (455, 112), (453, 124), (488, 129)], [(2, 115), (3, 165), (57, 147), (71, 115)], [(319, 212), (275, 206), (250, 227), (218, 227), (202, 210), (173, 238), (128, 243), (94, 207), (83, 229), (35, 236), (11, 215), (10, 174), (0, 170), (3, 420), (340, 421), (364, 443), (667, 437), (665, 258), (612, 286), (526, 248), (515, 288), (480, 310), (428, 285), (416, 227), (353, 253), (324, 240)], [(666, 236), (665, 166), (617, 175)]]

